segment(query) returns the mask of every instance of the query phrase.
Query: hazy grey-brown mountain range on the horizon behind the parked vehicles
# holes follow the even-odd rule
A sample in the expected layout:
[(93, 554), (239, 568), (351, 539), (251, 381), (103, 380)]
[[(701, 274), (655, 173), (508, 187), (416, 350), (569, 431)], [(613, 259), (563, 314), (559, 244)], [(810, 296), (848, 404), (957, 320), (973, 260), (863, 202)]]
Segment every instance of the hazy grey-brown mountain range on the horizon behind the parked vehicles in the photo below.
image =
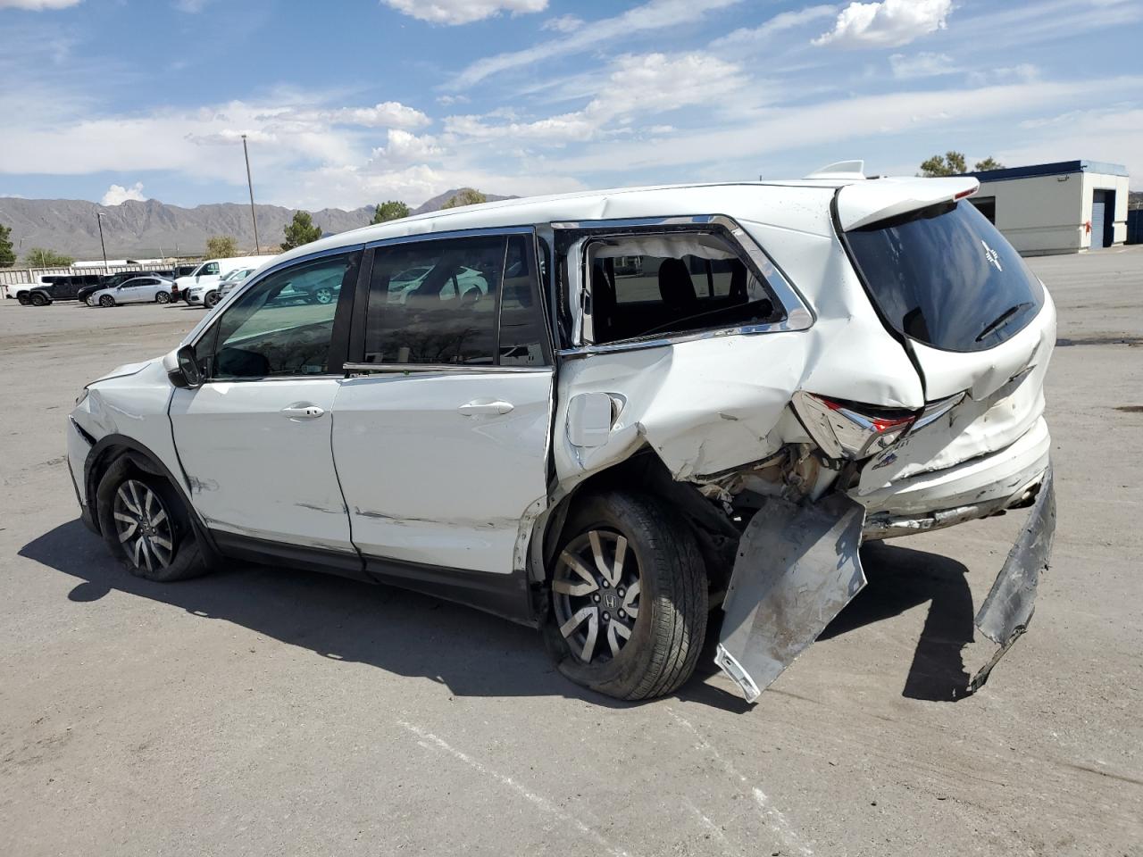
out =
[[(459, 190), (433, 197), (413, 214), (440, 209)], [(507, 198), (488, 194), (488, 199)], [(282, 230), (294, 219), (296, 210), (281, 206), (255, 206), (263, 250), (267, 246), (277, 247), (282, 240)], [(322, 233), (331, 234), (367, 225), (373, 211), (373, 206), (362, 206), (352, 211), (323, 208), (310, 214)], [(101, 206), (78, 199), (0, 197), (0, 224), (11, 227), (13, 249), (21, 259), (32, 247), (55, 250), (77, 259), (98, 259), (102, 254), (96, 225), (99, 214), (106, 215), (102, 221), (107, 258), (200, 256), (211, 235), (233, 235), (243, 253), (255, 249), (250, 207), (247, 205), (221, 202), (182, 208), (149, 199)]]

